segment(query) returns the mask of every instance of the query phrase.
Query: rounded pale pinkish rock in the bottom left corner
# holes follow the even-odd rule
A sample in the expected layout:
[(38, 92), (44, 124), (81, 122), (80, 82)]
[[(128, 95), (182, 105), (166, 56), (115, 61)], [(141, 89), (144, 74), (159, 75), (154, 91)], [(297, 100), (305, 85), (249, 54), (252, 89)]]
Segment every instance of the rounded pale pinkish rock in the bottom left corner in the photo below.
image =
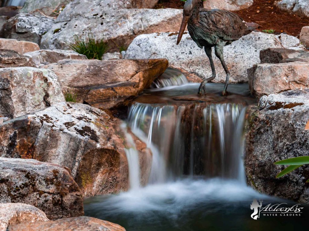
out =
[(9, 225), (25, 224), (36, 221), (49, 221), (45, 213), (33, 205), (22, 203), (0, 204), (0, 231)]

